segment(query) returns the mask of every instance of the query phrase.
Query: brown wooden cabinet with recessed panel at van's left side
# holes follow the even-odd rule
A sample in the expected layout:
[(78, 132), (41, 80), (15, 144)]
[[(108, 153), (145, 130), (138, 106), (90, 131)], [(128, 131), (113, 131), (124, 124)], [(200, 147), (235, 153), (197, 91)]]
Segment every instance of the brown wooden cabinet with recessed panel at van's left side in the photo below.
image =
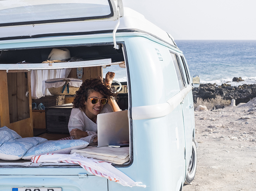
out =
[(33, 137), (30, 72), (0, 71), (0, 120), (1, 127)]

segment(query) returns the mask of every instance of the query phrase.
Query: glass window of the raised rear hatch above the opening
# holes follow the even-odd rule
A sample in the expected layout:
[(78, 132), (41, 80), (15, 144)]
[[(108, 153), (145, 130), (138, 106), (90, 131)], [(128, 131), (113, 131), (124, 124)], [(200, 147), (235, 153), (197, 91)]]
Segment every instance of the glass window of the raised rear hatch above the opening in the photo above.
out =
[(109, 18), (110, 5), (108, 0), (0, 1), (0, 26)]

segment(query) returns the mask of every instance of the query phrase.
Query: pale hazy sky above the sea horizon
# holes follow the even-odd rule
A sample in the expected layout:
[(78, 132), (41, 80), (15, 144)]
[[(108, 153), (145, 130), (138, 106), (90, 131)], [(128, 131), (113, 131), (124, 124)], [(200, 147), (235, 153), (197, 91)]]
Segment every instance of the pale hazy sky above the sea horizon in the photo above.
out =
[(256, 40), (255, 0), (122, 0), (175, 40)]

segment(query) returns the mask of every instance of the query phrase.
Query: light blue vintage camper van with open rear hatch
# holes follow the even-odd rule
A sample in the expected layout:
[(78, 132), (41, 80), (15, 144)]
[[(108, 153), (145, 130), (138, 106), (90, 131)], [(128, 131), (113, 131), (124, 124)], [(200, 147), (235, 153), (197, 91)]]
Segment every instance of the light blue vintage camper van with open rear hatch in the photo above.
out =
[[(53, 48), (83, 61), (42, 63)], [(190, 77), (170, 34), (121, 0), (0, 1), (0, 127), (32, 137), (31, 88), (39, 82), (31, 72), (64, 68), (83, 68), (82, 79), (105, 70), (124, 74), (117, 76), (123, 80), (118, 104), (128, 110), (129, 161), (113, 166), (146, 188), (122, 186), (79, 165), (20, 159), (0, 160), (0, 191), (179, 191), (192, 182), (192, 88), (199, 76)]]

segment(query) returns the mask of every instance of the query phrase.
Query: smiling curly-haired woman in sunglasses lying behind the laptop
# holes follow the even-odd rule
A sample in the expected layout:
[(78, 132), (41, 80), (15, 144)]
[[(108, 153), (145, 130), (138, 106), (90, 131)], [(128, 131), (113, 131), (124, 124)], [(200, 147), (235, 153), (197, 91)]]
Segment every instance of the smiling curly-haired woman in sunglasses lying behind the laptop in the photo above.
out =
[(110, 98), (113, 96), (109, 89), (113, 78), (114, 73), (108, 72), (104, 84), (101, 79), (87, 79), (82, 83), (68, 122), (72, 139), (97, 142), (97, 115), (120, 111), (116, 101)]

